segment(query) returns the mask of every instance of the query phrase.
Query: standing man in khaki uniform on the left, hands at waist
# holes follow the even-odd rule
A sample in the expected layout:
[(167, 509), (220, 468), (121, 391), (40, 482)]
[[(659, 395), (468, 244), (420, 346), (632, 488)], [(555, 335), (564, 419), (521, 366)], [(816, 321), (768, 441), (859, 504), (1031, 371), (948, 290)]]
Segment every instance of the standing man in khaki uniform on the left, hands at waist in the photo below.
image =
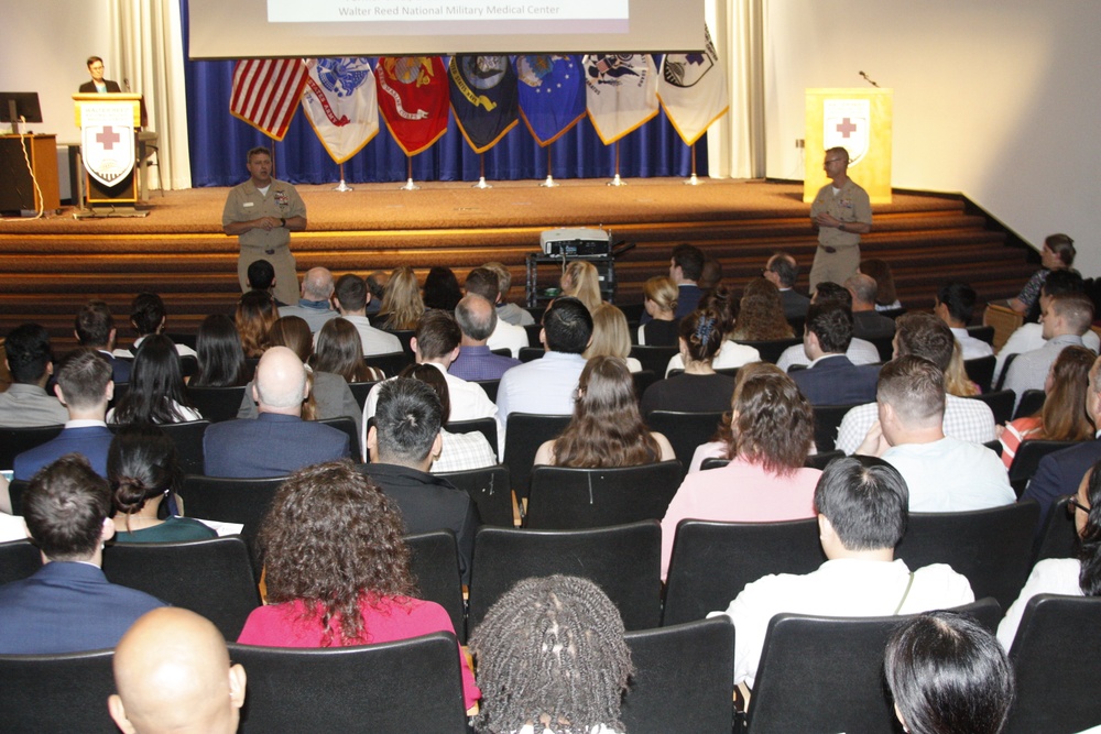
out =
[(221, 228), (237, 237), (241, 255), (237, 276), (241, 292), (249, 291), (249, 265), (266, 260), (275, 267), (275, 298), (298, 302), (298, 277), (291, 254), (291, 232), (306, 229), (306, 205), (294, 186), (272, 178), (272, 155), (266, 147), (249, 151), (250, 178), (230, 189), (221, 212)]

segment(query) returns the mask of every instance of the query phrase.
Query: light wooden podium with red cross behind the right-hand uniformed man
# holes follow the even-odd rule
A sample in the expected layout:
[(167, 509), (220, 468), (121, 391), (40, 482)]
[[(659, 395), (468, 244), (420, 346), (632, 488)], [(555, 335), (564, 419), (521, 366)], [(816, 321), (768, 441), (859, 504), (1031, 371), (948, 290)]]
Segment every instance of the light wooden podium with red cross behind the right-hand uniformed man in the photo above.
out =
[(872, 204), (891, 204), (893, 90), (807, 89), (806, 175), (803, 200), (815, 200), (829, 183), (822, 171), (826, 151), (849, 151), (849, 175), (868, 191)]

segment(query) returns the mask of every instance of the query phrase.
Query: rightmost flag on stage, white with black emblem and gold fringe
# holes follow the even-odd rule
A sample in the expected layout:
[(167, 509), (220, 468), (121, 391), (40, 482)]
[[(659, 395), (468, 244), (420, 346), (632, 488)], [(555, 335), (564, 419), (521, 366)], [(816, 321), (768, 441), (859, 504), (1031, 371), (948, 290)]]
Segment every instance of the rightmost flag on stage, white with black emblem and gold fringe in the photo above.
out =
[(704, 51), (665, 54), (657, 97), (685, 145), (695, 144), (712, 122), (727, 113), (727, 74), (719, 64), (707, 25)]

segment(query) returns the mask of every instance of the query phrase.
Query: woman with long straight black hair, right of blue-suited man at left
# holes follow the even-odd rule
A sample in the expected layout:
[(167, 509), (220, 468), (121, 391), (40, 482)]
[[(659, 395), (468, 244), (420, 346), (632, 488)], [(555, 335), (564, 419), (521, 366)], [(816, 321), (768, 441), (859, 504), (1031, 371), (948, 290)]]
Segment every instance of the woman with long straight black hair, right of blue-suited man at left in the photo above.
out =
[(130, 373), (130, 390), (107, 412), (107, 423), (186, 423), (203, 416), (187, 399), (176, 346), (164, 335), (145, 337)]

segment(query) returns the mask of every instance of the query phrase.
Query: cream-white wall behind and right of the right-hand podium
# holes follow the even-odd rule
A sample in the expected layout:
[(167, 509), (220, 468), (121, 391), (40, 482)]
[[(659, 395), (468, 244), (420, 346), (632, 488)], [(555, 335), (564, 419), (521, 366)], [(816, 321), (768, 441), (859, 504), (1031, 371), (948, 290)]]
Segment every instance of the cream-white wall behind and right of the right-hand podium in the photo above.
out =
[(1099, 29), (1091, 0), (766, 2), (767, 175), (803, 178), (804, 90), (863, 70), (894, 89), (894, 186), (961, 191), (1037, 245), (1065, 231), (1101, 274)]

